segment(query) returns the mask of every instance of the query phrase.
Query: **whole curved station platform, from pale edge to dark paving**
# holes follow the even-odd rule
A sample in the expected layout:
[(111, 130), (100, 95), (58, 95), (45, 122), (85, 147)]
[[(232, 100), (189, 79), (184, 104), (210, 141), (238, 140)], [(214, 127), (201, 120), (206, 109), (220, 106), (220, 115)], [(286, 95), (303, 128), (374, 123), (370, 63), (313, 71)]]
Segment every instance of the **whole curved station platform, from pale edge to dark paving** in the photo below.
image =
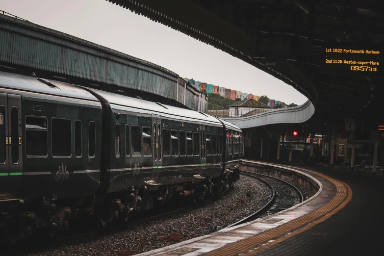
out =
[(262, 163), (284, 165), (310, 176), (320, 184), (320, 190), (311, 199), (280, 213), (141, 255), (382, 254), (383, 177), (337, 166)]

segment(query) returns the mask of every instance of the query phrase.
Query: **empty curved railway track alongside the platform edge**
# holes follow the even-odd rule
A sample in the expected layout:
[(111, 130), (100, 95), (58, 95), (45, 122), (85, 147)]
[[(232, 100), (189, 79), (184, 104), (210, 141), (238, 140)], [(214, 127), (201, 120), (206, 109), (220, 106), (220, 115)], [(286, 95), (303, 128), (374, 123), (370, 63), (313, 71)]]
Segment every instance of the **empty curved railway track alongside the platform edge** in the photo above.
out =
[[(261, 207), (259, 210), (245, 217), (244, 219), (231, 224), (227, 228), (234, 227), (234, 226), (255, 220), (257, 218), (262, 218), (262, 217), (277, 213), (293, 205), (300, 204), (301, 202), (304, 201), (304, 196), (301, 193), (301, 191), (297, 187), (295, 187), (294, 185), (292, 185), (291, 183), (285, 180), (268, 176), (268, 175), (243, 171), (243, 170), (240, 170), (240, 174), (253, 177), (265, 183), (271, 189), (272, 195), (268, 203), (265, 204), (263, 207)], [(296, 195), (297, 198), (294, 200), (291, 200), (292, 202), (286, 202), (287, 199), (285, 196), (287, 195), (288, 196), (291, 195), (292, 197)]]

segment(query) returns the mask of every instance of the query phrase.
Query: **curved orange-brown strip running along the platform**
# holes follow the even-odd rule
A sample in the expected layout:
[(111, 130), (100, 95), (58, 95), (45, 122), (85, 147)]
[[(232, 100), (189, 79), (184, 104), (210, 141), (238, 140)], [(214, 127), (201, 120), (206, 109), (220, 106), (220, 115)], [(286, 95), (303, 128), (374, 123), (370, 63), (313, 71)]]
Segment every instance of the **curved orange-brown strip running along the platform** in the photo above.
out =
[[(294, 169), (294, 167), (289, 168)], [(246, 238), (244, 240), (224, 246), (215, 251), (206, 253), (205, 256), (234, 256), (241, 253), (243, 253), (242, 256), (255, 255), (256, 253), (264, 251), (273, 245), (276, 245), (294, 235), (304, 232), (312, 228), (313, 226), (325, 221), (337, 211), (342, 209), (345, 205), (347, 205), (349, 201), (351, 201), (352, 189), (350, 188), (350, 186), (324, 174), (317, 172), (317, 175), (325, 179), (329, 179), (337, 187), (336, 195), (328, 204), (323, 205), (322, 207), (312, 211), (311, 213), (308, 213), (307, 215), (287, 222), (279, 227), (267, 230), (255, 236)], [(267, 243), (267, 241), (274, 239), (274, 242)], [(258, 247), (262, 244), (265, 245)]]

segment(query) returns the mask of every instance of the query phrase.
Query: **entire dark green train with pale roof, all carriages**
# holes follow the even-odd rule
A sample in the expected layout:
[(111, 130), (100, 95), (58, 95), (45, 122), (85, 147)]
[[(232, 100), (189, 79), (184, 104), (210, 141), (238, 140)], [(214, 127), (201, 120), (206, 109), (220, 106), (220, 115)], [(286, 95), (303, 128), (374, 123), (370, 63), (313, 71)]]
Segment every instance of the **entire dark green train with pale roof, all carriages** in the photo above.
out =
[(18, 237), (201, 200), (239, 178), (242, 145), (201, 112), (0, 72), (0, 227)]

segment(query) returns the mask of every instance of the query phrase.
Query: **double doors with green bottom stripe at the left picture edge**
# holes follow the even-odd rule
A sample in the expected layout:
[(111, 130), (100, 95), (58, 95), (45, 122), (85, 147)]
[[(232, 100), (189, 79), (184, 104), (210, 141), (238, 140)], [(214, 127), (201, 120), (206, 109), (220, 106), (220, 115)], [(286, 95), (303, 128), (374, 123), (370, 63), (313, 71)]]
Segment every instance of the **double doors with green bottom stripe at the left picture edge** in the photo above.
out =
[(23, 175), (21, 96), (0, 93), (0, 199), (16, 197)]

